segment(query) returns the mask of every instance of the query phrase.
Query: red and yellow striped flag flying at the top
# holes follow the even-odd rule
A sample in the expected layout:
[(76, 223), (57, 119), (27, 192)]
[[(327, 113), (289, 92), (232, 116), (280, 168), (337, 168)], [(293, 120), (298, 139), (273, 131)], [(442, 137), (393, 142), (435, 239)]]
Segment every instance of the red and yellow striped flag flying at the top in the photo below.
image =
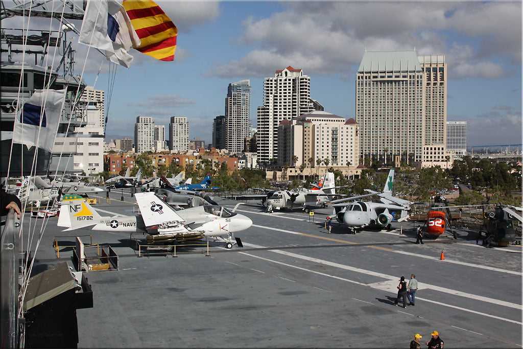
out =
[(151, 0), (124, 0), (122, 5), (142, 41), (135, 49), (161, 61), (174, 60), (178, 29), (160, 6)]

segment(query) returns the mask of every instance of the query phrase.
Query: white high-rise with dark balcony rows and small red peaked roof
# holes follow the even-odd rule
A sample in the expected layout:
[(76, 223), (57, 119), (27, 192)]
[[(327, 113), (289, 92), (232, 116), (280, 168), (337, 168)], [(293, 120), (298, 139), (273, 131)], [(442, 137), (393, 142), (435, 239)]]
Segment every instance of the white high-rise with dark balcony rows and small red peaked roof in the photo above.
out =
[(264, 104), (258, 107), (257, 155), (260, 163), (278, 158), (278, 125), (314, 110), (311, 78), (291, 66), (266, 77), (263, 85)]

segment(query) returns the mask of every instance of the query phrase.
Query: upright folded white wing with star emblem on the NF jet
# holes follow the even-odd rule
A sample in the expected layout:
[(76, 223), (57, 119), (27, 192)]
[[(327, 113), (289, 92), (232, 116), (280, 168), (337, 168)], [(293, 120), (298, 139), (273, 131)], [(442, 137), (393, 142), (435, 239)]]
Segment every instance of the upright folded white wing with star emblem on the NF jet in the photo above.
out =
[(152, 192), (134, 194), (146, 228), (155, 228), (168, 222), (184, 222), (176, 211)]

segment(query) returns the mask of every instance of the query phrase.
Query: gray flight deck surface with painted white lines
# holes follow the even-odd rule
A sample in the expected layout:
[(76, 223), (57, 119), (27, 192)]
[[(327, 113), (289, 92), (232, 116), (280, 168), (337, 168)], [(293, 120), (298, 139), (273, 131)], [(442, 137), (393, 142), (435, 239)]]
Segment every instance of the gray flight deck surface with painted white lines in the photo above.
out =
[[(134, 199), (111, 193), (95, 207), (133, 215)], [(227, 207), (237, 201), (215, 197)], [(67, 261), (74, 235), (111, 245), (118, 271), (88, 272), (94, 308), (78, 309), (79, 347), (422, 347), (434, 330), (445, 347), (521, 347), (521, 247), (487, 249), (475, 232), (457, 243), (414, 244), (412, 222), (391, 232), (324, 229), (331, 208), (268, 214), (238, 208), (253, 227), (244, 247), (222, 242), (138, 257), (128, 233), (62, 232), (50, 218), (35, 271)], [(27, 218), (26, 218), (27, 219)], [(400, 234), (401, 226), (403, 233)], [(417, 226), (417, 224), (416, 224)], [(88, 238), (84, 241), (88, 242)], [(444, 251), (445, 260), (439, 260)], [(416, 306), (394, 307), (400, 276), (416, 274)]]

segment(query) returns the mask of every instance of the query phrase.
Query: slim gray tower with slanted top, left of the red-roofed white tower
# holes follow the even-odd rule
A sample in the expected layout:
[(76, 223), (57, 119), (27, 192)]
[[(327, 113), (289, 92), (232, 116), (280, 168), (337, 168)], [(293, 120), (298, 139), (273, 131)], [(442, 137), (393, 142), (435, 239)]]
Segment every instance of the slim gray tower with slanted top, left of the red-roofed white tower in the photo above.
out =
[(251, 82), (242, 80), (229, 84), (225, 97), (225, 148), (230, 152), (243, 150), (249, 136)]

